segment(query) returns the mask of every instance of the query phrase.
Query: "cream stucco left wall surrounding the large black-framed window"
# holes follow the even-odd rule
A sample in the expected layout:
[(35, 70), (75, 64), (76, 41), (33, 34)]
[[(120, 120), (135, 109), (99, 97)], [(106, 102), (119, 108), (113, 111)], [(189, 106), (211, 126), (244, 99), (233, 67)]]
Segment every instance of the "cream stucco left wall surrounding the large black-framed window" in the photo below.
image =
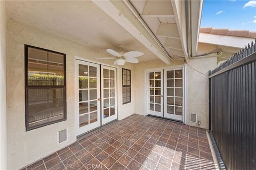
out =
[[(2, 26), (2, 25), (1, 25)], [(28, 25), (9, 20), (7, 22), (7, 168), (19, 169), (39, 158), (66, 147), (76, 141), (75, 134), (75, 57), (94, 60), (104, 56), (98, 51), (73, 41), (35, 29)], [(25, 128), (25, 65), (24, 44), (42, 47), (67, 54), (67, 120), (27, 131)], [(2, 55), (1, 55), (2, 62)], [(109, 61), (106, 64), (112, 64)], [(132, 90), (134, 89), (134, 67), (131, 70)], [(2, 65), (1, 65), (2, 69)], [(134, 113), (134, 91), (132, 103), (122, 105), (122, 68), (118, 67), (118, 118)], [(1, 73), (2, 74), (2, 73)], [(1, 77), (2, 78), (2, 77)], [(0, 81), (2, 82), (2, 81)], [(2, 85), (2, 84), (1, 84)], [(1, 86), (2, 88), (2, 86)], [(1, 89), (2, 90), (2, 89)], [(1, 100), (2, 101), (2, 100)], [(2, 103), (2, 102), (1, 102)], [(2, 111), (2, 110), (1, 110)], [(68, 141), (57, 145), (57, 131), (68, 128)], [(1, 128), (2, 130), (2, 128)], [(1, 148), (2, 153), (2, 148)]]

